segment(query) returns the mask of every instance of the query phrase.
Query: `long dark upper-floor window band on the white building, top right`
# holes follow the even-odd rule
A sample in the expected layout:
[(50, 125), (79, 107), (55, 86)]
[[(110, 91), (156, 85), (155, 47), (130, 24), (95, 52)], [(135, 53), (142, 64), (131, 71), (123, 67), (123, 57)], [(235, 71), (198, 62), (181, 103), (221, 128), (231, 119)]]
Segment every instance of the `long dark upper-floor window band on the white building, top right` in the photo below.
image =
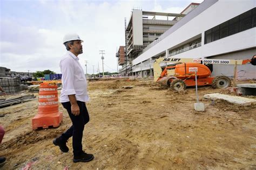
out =
[(256, 26), (256, 8), (205, 31), (205, 44)]

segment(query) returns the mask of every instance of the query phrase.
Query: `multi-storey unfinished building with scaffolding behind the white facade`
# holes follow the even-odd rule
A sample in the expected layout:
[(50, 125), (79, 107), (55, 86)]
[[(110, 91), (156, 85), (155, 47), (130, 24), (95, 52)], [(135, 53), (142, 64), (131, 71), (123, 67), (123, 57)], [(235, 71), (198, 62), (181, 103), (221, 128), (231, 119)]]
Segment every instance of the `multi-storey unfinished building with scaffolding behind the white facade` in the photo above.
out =
[[(120, 74), (131, 74), (132, 60), (143, 52), (143, 49), (176, 24), (186, 13), (196, 8), (198, 3), (191, 3), (181, 13), (150, 12), (132, 10), (129, 23), (125, 19), (125, 62), (119, 64)], [(118, 53), (116, 55), (118, 57)]]

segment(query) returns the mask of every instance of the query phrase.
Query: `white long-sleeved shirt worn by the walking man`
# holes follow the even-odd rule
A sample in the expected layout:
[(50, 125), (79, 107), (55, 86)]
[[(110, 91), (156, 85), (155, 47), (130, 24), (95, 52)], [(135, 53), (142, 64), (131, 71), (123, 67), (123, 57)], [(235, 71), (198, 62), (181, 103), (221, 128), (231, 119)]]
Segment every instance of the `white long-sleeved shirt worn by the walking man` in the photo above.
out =
[(69, 102), (68, 95), (76, 95), (77, 101), (87, 102), (90, 100), (87, 95), (87, 81), (84, 70), (79, 63), (79, 58), (72, 52), (67, 51), (59, 62), (62, 72), (62, 91), (60, 102)]

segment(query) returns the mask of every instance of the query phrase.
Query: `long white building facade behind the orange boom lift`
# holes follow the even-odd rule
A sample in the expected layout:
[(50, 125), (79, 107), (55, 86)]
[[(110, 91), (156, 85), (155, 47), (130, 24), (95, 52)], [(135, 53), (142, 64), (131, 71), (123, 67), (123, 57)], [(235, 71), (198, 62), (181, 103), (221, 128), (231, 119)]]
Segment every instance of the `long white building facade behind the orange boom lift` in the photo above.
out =
[[(133, 75), (152, 76), (152, 64), (159, 56), (252, 58), (256, 54), (255, 6), (256, 0), (205, 0), (132, 61)], [(255, 66), (238, 66), (241, 70), (256, 79)], [(212, 74), (232, 76), (233, 66), (214, 65)]]

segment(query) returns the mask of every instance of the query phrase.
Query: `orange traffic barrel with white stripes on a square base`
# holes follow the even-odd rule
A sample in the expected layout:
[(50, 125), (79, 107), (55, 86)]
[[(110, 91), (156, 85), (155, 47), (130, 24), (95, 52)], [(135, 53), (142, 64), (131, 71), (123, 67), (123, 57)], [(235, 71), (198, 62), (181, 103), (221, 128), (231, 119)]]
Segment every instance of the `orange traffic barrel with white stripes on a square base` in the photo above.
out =
[(41, 83), (39, 86), (38, 114), (32, 118), (32, 129), (58, 127), (63, 114), (59, 112), (58, 91), (55, 83)]

